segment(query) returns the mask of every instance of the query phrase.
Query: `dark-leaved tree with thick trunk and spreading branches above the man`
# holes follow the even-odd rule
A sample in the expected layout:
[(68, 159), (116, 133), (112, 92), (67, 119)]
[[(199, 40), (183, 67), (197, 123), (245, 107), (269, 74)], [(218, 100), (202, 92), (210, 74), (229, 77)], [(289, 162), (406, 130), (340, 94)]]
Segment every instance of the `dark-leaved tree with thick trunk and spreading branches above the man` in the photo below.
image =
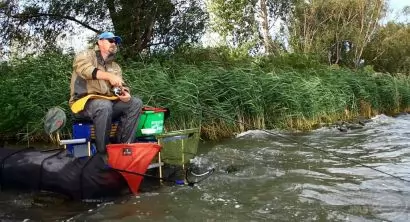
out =
[(197, 1), (6, 0), (0, 4), (1, 49), (13, 42), (52, 48), (61, 33), (77, 24), (96, 33), (114, 30), (122, 36), (126, 54), (133, 56), (198, 42), (206, 21)]

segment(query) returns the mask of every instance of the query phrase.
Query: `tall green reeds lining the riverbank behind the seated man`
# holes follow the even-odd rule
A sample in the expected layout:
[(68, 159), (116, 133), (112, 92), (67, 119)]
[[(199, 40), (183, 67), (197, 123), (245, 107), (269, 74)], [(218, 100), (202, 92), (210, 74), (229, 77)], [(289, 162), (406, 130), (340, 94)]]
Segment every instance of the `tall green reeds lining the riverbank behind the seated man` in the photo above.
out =
[[(28, 133), (31, 141), (47, 140), (42, 124), (47, 110), (68, 111), (71, 62), (70, 55), (48, 54), (2, 65), (8, 73), (0, 86), (3, 138)], [(307, 56), (232, 60), (192, 52), (120, 63), (133, 95), (171, 110), (168, 130), (201, 125), (205, 140), (250, 129), (307, 131), (410, 107), (405, 75), (329, 67)], [(69, 126), (63, 133), (69, 134)]]

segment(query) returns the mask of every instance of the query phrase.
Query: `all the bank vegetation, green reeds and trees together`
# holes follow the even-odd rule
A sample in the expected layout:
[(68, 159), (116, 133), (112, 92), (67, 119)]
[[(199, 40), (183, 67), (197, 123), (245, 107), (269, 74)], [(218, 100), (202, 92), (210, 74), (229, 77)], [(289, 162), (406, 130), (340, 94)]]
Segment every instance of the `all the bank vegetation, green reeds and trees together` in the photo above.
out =
[(385, 23), (388, 10), (384, 0), (6, 0), (0, 135), (47, 140), (47, 110), (69, 113), (74, 45), (58, 43), (78, 30), (122, 36), (125, 79), (146, 105), (170, 108), (169, 130), (201, 125), (220, 139), (406, 112), (410, 7)]

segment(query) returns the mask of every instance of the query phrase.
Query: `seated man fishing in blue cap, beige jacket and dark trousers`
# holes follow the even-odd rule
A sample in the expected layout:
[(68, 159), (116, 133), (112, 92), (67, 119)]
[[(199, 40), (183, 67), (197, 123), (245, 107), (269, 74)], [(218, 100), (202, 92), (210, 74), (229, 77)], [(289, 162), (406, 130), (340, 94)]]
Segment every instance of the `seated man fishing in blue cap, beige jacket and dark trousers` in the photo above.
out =
[(94, 49), (78, 53), (73, 62), (70, 108), (76, 116), (93, 121), (95, 144), (106, 154), (111, 123), (119, 119), (118, 143), (132, 143), (143, 103), (132, 97), (114, 61), (121, 38), (112, 32), (98, 35)]

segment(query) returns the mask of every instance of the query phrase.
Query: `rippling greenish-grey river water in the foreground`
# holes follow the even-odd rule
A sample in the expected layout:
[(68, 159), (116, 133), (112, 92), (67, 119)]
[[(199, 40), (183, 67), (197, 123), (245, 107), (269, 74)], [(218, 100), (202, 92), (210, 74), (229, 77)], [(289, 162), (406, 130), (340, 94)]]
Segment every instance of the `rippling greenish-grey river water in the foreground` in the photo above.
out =
[(380, 115), (347, 132), (248, 131), (201, 144), (194, 163), (215, 172), (193, 187), (163, 186), (104, 204), (0, 193), (0, 219), (410, 221), (410, 115)]

